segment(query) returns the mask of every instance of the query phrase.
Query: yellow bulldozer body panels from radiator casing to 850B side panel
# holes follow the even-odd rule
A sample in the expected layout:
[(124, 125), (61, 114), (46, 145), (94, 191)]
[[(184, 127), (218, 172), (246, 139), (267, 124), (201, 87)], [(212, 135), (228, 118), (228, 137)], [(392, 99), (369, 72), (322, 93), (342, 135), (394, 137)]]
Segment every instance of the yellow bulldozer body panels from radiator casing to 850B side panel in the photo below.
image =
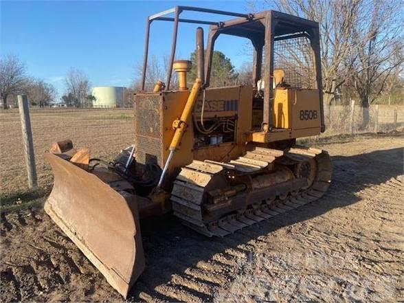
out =
[[(137, 161), (155, 158), (155, 163), (164, 166), (170, 144), (175, 134), (172, 121), (181, 116), (190, 91), (164, 91), (161, 93), (137, 93), (135, 95), (135, 157)], [(235, 86), (208, 88), (199, 94), (192, 115), (186, 122), (177, 156), (172, 159), (168, 172), (179, 170), (193, 159), (229, 161), (245, 153), (248, 143), (269, 143), (296, 137), (308, 137), (320, 133), (320, 109), (316, 89), (276, 89), (273, 102), (273, 121), (276, 131), (255, 131), (253, 124), (262, 122), (261, 114), (253, 122), (253, 87)], [(217, 144), (197, 144), (196, 123), (217, 118), (236, 119), (234, 139)], [(153, 125), (149, 125), (153, 124)], [(144, 144), (147, 142), (147, 144)], [(156, 156), (157, 155), (157, 156)], [(170, 175), (170, 173), (168, 173)], [(172, 183), (170, 178), (166, 183)]]

